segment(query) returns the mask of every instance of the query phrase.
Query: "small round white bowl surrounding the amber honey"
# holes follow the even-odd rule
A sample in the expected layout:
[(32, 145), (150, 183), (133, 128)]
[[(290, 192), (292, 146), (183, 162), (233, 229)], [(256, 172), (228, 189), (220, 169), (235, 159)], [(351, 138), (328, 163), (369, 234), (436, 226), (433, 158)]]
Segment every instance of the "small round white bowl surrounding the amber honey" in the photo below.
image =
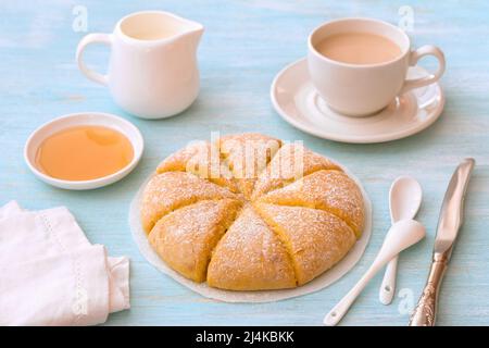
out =
[[(90, 181), (65, 181), (51, 177), (36, 167), (36, 152), (41, 142), (49, 136), (73, 126), (97, 125), (121, 132), (133, 145), (134, 157), (125, 167), (108, 176)], [(145, 140), (138, 128), (130, 122), (103, 112), (78, 112), (54, 119), (33, 132), (24, 148), (24, 159), (33, 173), (45, 183), (64, 189), (92, 189), (110, 185), (129, 174), (138, 164), (145, 149)]]

